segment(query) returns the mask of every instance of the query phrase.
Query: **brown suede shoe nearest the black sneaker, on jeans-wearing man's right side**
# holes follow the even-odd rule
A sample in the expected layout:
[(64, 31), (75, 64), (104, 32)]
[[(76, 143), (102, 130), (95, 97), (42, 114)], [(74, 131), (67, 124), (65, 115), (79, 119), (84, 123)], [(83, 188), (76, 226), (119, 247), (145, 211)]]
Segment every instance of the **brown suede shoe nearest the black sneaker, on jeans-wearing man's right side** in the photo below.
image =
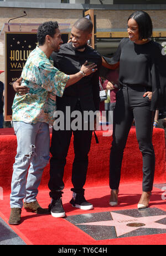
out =
[(37, 214), (49, 214), (49, 209), (43, 209), (38, 201), (33, 201), (31, 203), (24, 202), (24, 208), (26, 211), (30, 213), (37, 213)]

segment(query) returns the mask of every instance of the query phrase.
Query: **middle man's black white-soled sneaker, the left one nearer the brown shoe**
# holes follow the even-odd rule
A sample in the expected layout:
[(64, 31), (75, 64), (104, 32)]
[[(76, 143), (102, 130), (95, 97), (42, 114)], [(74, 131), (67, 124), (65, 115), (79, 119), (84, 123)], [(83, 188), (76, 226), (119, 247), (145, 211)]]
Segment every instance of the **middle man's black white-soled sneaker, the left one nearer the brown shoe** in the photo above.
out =
[(49, 205), (49, 211), (54, 218), (64, 218), (65, 210), (63, 208), (63, 204), (61, 198), (51, 198), (51, 203)]

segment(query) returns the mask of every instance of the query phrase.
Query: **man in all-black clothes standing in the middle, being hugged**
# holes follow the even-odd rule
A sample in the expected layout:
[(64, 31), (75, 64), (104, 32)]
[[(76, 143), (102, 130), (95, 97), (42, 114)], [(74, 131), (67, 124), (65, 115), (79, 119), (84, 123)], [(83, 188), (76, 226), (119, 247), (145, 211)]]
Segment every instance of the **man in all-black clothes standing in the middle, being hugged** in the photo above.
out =
[[(63, 112), (64, 120), (68, 122), (68, 113), (66, 107), (70, 107), (69, 115), (73, 111), (80, 111), (82, 116), (84, 111), (99, 110), (99, 69), (102, 64), (102, 58), (98, 52), (87, 45), (87, 41), (92, 36), (92, 22), (87, 18), (79, 19), (71, 29), (71, 42), (61, 46), (58, 53), (53, 52), (51, 57), (54, 60), (54, 66), (66, 74), (75, 73), (80, 70), (82, 63), (88, 61), (97, 65), (97, 71), (89, 77), (83, 77), (79, 82), (66, 88), (63, 97), (56, 97), (56, 109)], [(52, 154), (50, 160), (50, 211), (55, 218), (64, 217), (65, 211), (61, 203), (61, 196), (64, 189), (63, 175), (66, 164), (66, 156), (70, 146), (71, 136), (74, 136), (74, 162), (72, 164), (72, 206), (82, 210), (90, 210), (93, 205), (85, 200), (84, 185), (88, 166), (88, 154), (91, 146), (92, 130), (73, 130), (70, 129), (56, 130), (53, 126), (53, 135), (51, 140)], [(82, 120), (83, 124), (84, 120)], [(69, 127), (69, 126), (68, 126)]]

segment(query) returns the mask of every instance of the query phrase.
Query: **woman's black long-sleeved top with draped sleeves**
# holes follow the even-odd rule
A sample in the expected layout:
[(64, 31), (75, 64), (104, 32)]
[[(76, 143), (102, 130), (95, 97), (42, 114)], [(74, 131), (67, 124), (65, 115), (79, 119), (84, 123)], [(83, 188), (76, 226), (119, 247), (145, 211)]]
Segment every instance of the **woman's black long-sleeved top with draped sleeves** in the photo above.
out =
[(166, 106), (166, 57), (162, 55), (159, 43), (149, 41), (137, 45), (129, 38), (123, 38), (115, 55), (106, 61), (111, 64), (120, 62), (121, 85), (145, 86), (153, 91), (152, 110)]

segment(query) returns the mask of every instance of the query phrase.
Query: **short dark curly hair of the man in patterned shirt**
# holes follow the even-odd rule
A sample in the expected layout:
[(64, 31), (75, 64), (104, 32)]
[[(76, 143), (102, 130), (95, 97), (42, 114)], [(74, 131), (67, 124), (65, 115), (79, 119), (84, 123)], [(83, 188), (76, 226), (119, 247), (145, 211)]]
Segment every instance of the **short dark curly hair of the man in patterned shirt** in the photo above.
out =
[(48, 21), (44, 22), (43, 24), (40, 24), (37, 33), (39, 45), (44, 45), (46, 35), (53, 37), (56, 33), (55, 29), (58, 27), (59, 25), (57, 21)]

